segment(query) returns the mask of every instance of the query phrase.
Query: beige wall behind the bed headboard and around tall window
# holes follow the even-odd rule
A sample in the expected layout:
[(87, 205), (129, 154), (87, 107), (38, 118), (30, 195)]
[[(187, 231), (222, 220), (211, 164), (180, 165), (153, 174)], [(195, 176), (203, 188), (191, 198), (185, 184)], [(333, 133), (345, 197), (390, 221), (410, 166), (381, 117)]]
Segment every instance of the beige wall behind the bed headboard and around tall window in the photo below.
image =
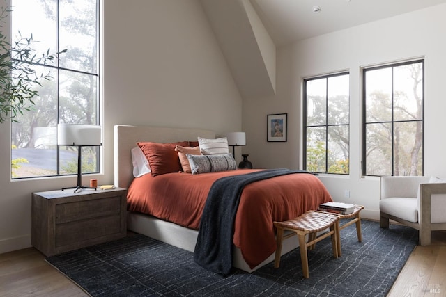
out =
[[(240, 131), (242, 99), (197, 0), (104, 1), (104, 174), (113, 182), (113, 126)], [(10, 180), (10, 125), (0, 125), (0, 253), (31, 246), (31, 193), (75, 177)], [(91, 175), (84, 176), (84, 184)]]

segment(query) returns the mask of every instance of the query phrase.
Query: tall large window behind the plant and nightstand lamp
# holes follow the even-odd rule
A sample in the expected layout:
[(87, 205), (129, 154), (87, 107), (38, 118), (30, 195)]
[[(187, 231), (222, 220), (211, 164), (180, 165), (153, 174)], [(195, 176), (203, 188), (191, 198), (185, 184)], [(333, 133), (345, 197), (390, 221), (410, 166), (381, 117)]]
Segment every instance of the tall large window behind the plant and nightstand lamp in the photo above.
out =
[[(100, 0), (13, 0), (13, 40), (33, 36), (37, 55), (67, 49), (48, 65), (35, 106), (12, 123), (12, 178), (77, 173), (77, 148), (58, 147), (58, 123), (100, 125)], [(99, 147), (82, 148), (82, 172), (99, 172)]]

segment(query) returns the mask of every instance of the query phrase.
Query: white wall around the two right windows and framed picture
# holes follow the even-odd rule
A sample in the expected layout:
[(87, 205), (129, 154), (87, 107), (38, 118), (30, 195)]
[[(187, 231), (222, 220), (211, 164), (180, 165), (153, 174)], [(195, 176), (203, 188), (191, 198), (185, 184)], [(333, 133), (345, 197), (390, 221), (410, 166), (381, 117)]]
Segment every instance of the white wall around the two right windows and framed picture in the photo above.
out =
[[(350, 175), (321, 175), (334, 200), (363, 204), (364, 217), (378, 219), (378, 178), (361, 177), (361, 67), (425, 58), (425, 175), (446, 176), (446, 4), (321, 35), (277, 51), (277, 95), (243, 102), (243, 129), (254, 166), (301, 168), (302, 79), (350, 70)], [(288, 113), (288, 142), (266, 142), (266, 115)], [(344, 199), (344, 191), (351, 198)]]

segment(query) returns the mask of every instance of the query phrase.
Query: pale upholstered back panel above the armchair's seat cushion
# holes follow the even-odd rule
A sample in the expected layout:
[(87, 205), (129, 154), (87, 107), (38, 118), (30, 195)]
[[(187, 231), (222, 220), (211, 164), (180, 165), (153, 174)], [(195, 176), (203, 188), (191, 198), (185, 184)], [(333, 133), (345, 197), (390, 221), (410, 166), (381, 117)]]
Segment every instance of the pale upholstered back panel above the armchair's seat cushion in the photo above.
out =
[(429, 177), (380, 177), (380, 199), (417, 198), (418, 186), (424, 182), (429, 182)]

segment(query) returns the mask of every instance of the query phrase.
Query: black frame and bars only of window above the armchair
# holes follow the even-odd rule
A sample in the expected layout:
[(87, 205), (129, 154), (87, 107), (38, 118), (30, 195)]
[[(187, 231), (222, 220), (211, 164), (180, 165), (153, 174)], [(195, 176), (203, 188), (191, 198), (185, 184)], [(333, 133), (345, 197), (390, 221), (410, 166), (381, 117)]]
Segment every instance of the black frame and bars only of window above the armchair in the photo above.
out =
[[(402, 65), (410, 65), (415, 63), (422, 63), (422, 119), (421, 120), (394, 120), (394, 67), (399, 67)], [(425, 104), (425, 96), (424, 96), (424, 82), (425, 82), (425, 61), (424, 58), (417, 58), (415, 60), (409, 60), (409, 61), (402, 61), (397, 63), (390, 63), (385, 65), (378, 65), (378, 66), (371, 66), (371, 67), (364, 67), (362, 68), (362, 161), (361, 161), (361, 174), (363, 177), (380, 177), (385, 175), (373, 175), (373, 174), (367, 174), (367, 90), (366, 90), (366, 79), (367, 79), (367, 72), (371, 70), (380, 70), (385, 68), (392, 68), (392, 120), (391, 121), (380, 121), (380, 122), (373, 122), (374, 124), (382, 124), (382, 123), (390, 123), (392, 125), (392, 143), (391, 143), (391, 151), (392, 151), (392, 157), (391, 157), (391, 164), (392, 164), (392, 174), (390, 176), (394, 176), (394, 123), (401, 123), (401, 122), (422, 122), (422, 172), (419, 176), (424, 175), (424, 104)], [(371, 123), (369, 123), (371, 124)], [(401, 175), (400, 175), (401, 176)]]

